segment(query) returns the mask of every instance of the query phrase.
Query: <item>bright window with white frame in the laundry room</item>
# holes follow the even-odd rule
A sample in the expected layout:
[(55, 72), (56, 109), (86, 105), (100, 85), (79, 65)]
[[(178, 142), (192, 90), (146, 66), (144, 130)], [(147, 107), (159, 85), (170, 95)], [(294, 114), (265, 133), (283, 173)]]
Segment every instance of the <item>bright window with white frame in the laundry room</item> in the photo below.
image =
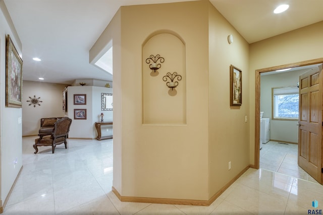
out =
[(272, 88), (272, 118), (298, 120), (298, 87)]

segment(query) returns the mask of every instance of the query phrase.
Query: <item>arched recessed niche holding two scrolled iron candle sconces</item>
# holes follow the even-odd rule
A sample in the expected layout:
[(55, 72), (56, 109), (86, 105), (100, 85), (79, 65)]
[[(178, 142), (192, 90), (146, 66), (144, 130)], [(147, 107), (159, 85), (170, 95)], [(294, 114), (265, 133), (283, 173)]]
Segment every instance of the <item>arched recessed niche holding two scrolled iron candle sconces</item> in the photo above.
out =
[[(143, 124), (186, 124), (184, 40), (170, 30), (155, 31), (143, 42), (142, 54)], [(154, 58), (157, 55), (160, 59), (156, 63), (160, 64), (160, 68), (153, 70), (149, 65), (157, 59)], [(170, 82), (172, 76), (168, 78), (167, 75), (175, 77), (175, 73), (181, 76), (174, 79), (178, 85), (176, 88), (169, 88), (167, 82)]]

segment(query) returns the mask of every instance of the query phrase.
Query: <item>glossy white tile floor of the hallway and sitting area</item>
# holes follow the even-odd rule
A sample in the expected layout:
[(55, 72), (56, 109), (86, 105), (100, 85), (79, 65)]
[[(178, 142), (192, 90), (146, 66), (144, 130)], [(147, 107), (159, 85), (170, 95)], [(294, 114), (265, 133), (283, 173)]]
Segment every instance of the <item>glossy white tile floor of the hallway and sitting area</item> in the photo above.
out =
[(322, 185), (264, 169), (248, 169), (210, 206), (120, 202), (111, 191), (112, 139), (70, 139), (68, 150), (42, 147), (37, 155), (33, 140), (23, 138), (24, 168), (5, 215), (308, 214), (313, 200), (323, 208)]

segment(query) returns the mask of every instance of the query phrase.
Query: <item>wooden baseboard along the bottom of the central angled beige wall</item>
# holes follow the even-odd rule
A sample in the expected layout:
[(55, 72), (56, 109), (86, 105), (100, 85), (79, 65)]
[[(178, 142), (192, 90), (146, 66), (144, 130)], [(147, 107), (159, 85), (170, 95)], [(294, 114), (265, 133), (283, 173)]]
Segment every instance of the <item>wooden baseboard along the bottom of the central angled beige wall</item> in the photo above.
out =
[(233, 184), (233, 182), (235, 182), (249, 168), (250, 168), (250, 165), (248, 165), (240, 173), (238, 173), (231, 181), (229, 181), (218, 192), (216, 192), (209, 200), (122, 196), (122, 195), (120, 195), (120, 193), (118, 192), (118, 190), (114, 186), (112, 186), (112, 191), (115, 193), (115, 195), (119, 198), (120, 201), (126, 201), (126, 202), (209, 206), (214, 200), (216, 200), (226, 189), (228, 189), (228, 187), (230, 187)]

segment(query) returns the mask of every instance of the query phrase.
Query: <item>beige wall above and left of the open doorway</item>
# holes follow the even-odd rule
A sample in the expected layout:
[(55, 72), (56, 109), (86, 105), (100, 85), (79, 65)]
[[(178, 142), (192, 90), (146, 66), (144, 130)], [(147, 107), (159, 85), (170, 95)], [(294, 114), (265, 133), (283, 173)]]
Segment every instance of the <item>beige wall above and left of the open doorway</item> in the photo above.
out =
[(255, 70), (323, 57), (323, 22), (250, 44), (250, 164), (254, 160)]

